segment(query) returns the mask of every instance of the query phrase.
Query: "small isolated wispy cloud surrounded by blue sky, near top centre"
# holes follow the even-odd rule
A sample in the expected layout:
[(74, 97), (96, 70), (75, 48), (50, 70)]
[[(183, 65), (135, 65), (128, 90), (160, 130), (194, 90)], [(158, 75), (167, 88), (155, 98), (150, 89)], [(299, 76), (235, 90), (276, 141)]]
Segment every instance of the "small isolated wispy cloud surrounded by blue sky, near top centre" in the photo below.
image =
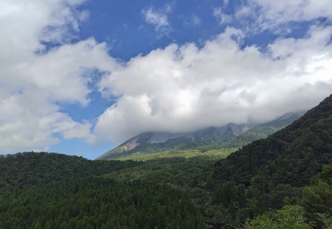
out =
[(161, 34), (168, 34), (172, 27), (168, 20), (168, 14), (172, 12), (171, 5), (165, 5), (163, 8), (156, 10), (153, 7), (141, 11), (147, 23), (155, 26), (155, 31)]

